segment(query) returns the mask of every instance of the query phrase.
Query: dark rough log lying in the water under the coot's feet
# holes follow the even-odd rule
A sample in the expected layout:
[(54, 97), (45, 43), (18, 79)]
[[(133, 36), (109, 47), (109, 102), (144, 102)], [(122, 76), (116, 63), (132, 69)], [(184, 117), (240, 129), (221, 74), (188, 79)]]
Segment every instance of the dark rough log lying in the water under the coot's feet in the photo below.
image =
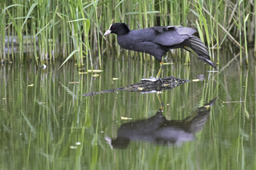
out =
[(94, 95), (104, 94), (104, 93), (111, 93), (114, 91), (140, 91), (142, 93), (148, 93), (148, 92), (154, 92), (154, 91), (162, 91), (167, 89), (173, 89), (177, 86), (180, 86), (181, 84), (184, 84), (186, 82), (189, 82), (189, 80), (186, 79), (177, 79), (173, 76), (170, 77), (164, 77), (162, 78), (163, 84), (160, 81), (142, 81), (138, 82), (136, 84), (132, 84), (130, 86), (126, 86), (124, 88), (118, 88), (118, 89), (107, 89), (104, 91), (94, 91), (90, 93), (83, 94), (84, 97), (92, 97)]

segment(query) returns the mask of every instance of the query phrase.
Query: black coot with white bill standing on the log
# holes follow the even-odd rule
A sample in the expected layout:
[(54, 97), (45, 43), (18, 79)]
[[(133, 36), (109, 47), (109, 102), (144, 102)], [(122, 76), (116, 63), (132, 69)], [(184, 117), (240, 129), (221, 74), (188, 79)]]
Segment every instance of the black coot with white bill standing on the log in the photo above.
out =
[(154, 56), (160, 63), (156, 78), (150, 77), (150, 79), (141, 79), (141, 81), (157, 81), (164, 68), (162, 57), (170, 49), (188, 50), (198, 59), (218, 70), (215, 63), (211, 61), (204, 42), (193, 36), (195, 32), (196, 29), (182, 26), (156, 26), (130, 30), (125, 23), (115, 23), (111, 24), (104, 35), (114, 33), (117, 35), (118, 44), (124, 49), (145, 52)]

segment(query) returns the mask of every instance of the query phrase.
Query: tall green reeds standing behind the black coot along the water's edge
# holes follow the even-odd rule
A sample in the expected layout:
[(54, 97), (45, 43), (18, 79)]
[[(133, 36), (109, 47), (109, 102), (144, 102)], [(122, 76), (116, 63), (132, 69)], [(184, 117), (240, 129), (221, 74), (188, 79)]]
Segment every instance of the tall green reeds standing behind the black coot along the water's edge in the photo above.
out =
[[(19, 59), (22, 63), (26, 54), (26, 60), (34, 59), (37, 65), (73, 58), (78, 68), (92, 70), (99, 65), (101, 69), (101, 56), (109, 49), (116, 48), (120, 55), (115, 36), (102, 36), (113, 22), (125, 22), (131, 29), (180, 24), (196, 27), (213, 60), (214, 50), (218, 50), (218, 61), (220, 48), (238, 46), (241, 63), (246, 60), (248, 64), (248, 44), (254, 42), (256, 47), (255, 3), (249, 0), (38, 0), (1, 1), (0, 6), (0, 59), (6, 62)], [(15, 44), (19, 45), (17, 53), (13, 52)], [(180, 50), (176, 54), (182, 55)], [(146, 54), (140, 56), (148, 59)]]

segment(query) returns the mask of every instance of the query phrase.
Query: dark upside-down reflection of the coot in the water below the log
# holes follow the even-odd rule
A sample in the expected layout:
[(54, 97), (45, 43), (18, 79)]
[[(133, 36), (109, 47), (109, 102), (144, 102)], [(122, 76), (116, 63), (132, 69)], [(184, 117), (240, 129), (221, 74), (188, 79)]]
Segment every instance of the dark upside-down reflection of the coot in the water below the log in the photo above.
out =
[(193, 141), (195, 133), (202, 130), (211, 109), (207, 109), (215, 103), (211, 100), (204, 107), (198, 108), (196, 116), (184, 120), (166, 120), (160, 109), (156, 115), (120, 126), (116, 139), (109, 143), (113, 148), (127, 148), (130, 141), (148, 141), (156, 144), (177, 144), (184, 141)]

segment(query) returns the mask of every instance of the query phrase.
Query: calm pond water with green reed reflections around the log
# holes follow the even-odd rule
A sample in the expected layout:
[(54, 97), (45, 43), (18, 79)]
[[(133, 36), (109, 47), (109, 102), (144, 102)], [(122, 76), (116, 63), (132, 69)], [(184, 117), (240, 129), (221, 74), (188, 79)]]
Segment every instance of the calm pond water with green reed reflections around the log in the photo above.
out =
[(164, 61), (174, 65), (162, 77), (207, 80), (162, 91), (163, 112), (157, 93), (82, 96), (156, 75), (157, 61), (104, 55), (98, 77), (72, 62), (1, 65), (1, 169), (256, 169), (255, 61), (232, 55), (221, 54), (219, 72)]

